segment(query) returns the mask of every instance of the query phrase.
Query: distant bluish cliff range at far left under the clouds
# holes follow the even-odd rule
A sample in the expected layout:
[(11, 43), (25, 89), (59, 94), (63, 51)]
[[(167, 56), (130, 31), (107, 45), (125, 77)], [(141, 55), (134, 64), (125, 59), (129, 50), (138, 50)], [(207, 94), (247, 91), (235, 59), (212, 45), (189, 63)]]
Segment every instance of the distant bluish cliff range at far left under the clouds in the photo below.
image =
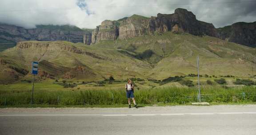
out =
[[(0, 24), (0, 39), (12, 42), (20, 42), (25, 40), (38, 41), (54, 41), (54, 40), (70, 40), (70, 42), (84, 42), (91, 44), (91, 32), (82, 29), (73, 29), (72, 26), (39, 27), (33, 29), (25, 29), (14, 25)], [(69, 29), (67, 27), (70, 27)], [(83, 38), (85, 37), (85, 40)]]

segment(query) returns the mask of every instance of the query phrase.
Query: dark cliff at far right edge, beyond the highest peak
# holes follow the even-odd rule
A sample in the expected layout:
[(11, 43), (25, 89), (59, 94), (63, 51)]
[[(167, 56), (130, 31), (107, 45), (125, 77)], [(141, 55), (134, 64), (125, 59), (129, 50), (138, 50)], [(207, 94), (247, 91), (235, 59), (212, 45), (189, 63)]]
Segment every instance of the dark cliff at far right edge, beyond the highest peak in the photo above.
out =
[(256, 22), (244, 23), (239, 22), (218, 28), (218, 38), (228, 40), (230, 42), (244, 44), (250, 47), (256, 47)]

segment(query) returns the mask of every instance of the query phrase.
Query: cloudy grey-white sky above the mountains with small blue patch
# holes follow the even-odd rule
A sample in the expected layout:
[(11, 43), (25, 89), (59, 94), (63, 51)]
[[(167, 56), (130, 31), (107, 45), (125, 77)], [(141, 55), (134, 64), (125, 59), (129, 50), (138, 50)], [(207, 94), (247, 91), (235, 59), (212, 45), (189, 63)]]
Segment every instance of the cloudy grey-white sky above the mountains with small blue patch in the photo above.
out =
[(256, 21), (256, 0), (0, 0), (0, 22), (25, 28), (36, 24), (96, 28), (104, 20), (172, 14), (176, 8), (186, 8), (216, 28)]

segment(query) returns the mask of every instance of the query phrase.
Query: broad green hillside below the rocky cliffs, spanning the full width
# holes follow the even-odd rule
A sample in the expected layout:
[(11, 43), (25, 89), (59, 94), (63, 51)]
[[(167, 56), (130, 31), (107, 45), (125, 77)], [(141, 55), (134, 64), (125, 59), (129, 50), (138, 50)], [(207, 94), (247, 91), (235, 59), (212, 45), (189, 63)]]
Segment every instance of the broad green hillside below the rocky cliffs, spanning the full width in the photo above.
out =
[[(36, 79), (103, 80), (152, 78), (196, 73), (251, 76), (256, 72), (256, 49), (210, 36), (166, 32), (129, 40), (102, 40), (91, 46), (64, 41), (20, 42), (0, 53), (0, 82), (30, 79), (32, 60), (40, 62)], [(255, 74), (255, 73), (254, 73)]]

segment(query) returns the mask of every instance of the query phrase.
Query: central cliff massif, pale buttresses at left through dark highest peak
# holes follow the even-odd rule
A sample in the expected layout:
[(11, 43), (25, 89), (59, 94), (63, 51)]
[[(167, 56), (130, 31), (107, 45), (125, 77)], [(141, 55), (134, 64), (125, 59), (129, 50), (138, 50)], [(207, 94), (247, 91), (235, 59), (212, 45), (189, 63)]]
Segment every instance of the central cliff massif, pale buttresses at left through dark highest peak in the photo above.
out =
[(177, 8), (174, 14), (159, 13), (157, 17), (147, 18), (133, 15), (117, 21), (105, 20), (92, 32), (92, 44), (100, 40), (116, 40), (117, 38), (125, 40), (168, 31), (188, 32), (197, 36), (217, 35), (212, 24), (196, 20), (192, 12)]

